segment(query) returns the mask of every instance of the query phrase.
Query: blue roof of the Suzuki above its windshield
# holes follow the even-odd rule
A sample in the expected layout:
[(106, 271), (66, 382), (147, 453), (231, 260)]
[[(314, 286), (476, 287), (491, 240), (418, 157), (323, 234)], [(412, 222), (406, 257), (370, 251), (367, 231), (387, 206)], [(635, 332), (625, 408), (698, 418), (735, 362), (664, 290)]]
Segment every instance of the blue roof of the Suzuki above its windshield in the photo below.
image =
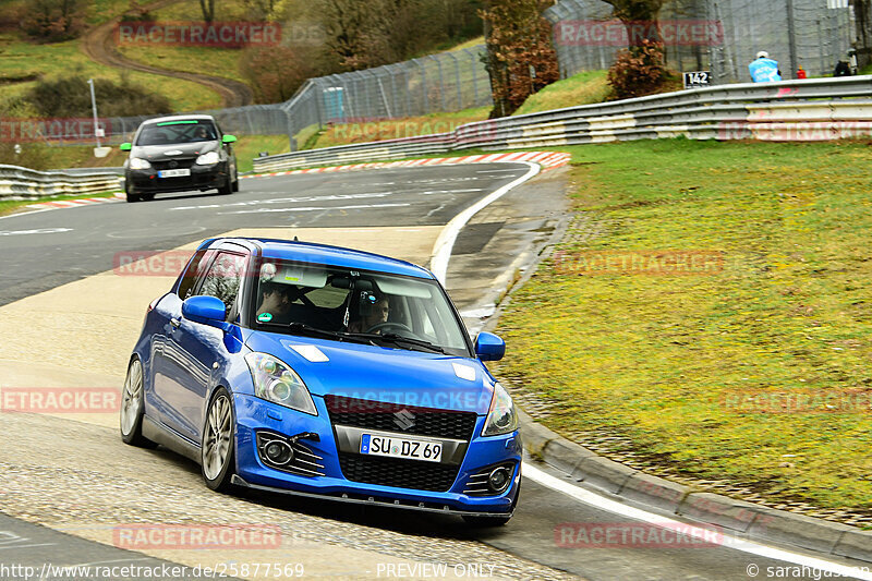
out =
[(330, 266), (376, 270), (393, 275), (405, 275), (417, 278), (435, 278), (426, 268), (405, 261), (363, 252), (359, 250), (317, 244), (315, 242), (277, 240), (268, 238), (244, 238), (257, 242), (266, 258), (304, 261)]

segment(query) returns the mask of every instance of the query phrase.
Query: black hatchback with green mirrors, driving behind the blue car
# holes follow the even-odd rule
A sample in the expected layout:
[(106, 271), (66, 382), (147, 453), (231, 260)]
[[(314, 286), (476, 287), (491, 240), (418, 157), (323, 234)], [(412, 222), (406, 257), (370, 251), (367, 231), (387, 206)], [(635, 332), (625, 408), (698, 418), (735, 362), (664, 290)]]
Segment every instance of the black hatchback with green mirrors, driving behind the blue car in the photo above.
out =
[(161, 117), (145, 121), (124, 161), (128, 202), (154, 199), (164, 192), (217, 189), (221, 194), (239, 191), (233, 135), (225, 135), (210, 116)]

